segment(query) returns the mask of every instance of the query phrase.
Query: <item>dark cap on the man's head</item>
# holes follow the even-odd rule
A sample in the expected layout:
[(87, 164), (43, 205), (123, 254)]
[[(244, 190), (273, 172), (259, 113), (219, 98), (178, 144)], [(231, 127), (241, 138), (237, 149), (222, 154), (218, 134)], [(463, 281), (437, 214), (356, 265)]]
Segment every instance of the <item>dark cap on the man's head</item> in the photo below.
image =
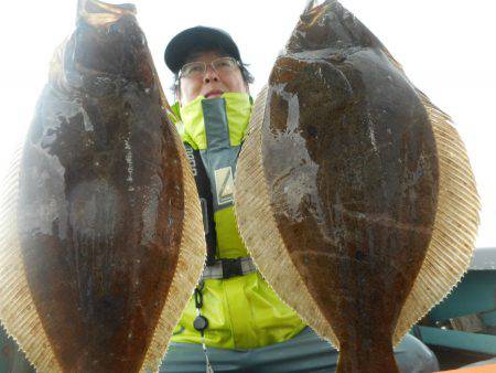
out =
[(205, 46), (222, 49), (229, 56), (241, 61), (239, 50), (230, 35), (219, 29), (197, 25), (186, 29), (172, 38), (165, 47), (164, 60), (168, 67), (174, 73), (179, 73), (191, 52)]

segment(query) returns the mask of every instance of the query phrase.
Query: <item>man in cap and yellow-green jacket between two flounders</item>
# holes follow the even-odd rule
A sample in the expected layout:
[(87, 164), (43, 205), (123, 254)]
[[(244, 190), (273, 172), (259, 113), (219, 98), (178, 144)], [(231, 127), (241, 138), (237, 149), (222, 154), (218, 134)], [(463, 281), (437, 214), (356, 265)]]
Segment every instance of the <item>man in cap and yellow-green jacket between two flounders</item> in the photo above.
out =
[[(195, 174), (207, 263), (177, 323), (161, 372), (331, 372), (338, 353), (283, 303), (255, 267), (237, 230), (236, 162), (251, 115), (254, 77), (225, 31), (195, 26), (165, 49), (175, 76), (175, 121)], [(412, 335), (396, 349), (402, 372), (438, 369)]]

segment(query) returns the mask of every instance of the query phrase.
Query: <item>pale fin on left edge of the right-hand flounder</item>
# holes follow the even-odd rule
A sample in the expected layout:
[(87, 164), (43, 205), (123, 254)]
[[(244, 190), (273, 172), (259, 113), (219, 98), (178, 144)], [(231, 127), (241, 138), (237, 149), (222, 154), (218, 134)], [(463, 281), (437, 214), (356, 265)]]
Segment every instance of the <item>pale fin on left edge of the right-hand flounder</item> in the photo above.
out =
[[(337, 347), (338, 342), (331, 326), (321, 313), (285, 249), (269, 203), (261, 153), (261, 130), (263, 119), (268, 115), (267, 99), (266, 86), (255, 102), (247, 140), (237, 163), (235, 212), (239, 231), (267, 283), (277, 294), (284, 295), (284, 301), (288, 301), (306, 323)], [(273, 266), (273, 263), (278, 265)], [(288, 286), (292, 289), (288, 290)]]

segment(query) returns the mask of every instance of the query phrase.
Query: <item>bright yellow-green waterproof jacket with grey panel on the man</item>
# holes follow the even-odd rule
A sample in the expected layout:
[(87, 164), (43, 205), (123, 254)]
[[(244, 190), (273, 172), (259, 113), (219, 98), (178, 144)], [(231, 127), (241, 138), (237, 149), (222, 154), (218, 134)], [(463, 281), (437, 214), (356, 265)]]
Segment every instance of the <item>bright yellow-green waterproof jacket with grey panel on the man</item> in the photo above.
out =
[[(225, 93), (220, 98), (205, 99), (203, 96), (181, 107), (175, 106), (175, 119), (184, 142), (205, 154), (224, 143), (220, 151), (205, 157), (204, 166), (209, 179), (215, 179), (216, 164), (233, 159), (233, 175), (245, 130), (251, 114), (251, 98), (247, 94)], [(209, 149), (211, 148), (211, 149)], [(233, 156), (234, 154), (234, 156)], [(216, 158), (223, 159), (216, 159)], [(208, 170), (211, 169), (211, 170)], [(215, 182), (211, 180), (212, 189)], [(231, 183), (231, 181), (230, 181)], [(223, 183), (223, 192), (231, 193), (233, 185)], [(217, 257), (239, 258), (248, 252), (239, 236), (233, 201), (218, 196), (214, 213), (217, 238)], [(228, 196), (228, 195), (227, 195)], [(285, 341), (304, 327), (300, 317), (284, 305), (256, 271), (228, 279), (205, 279), (202, 315), (208, 320), (205, 343), (223, 349), (256, 349)], [(192, 297), (174, 329), (172, 341), (202, 343), (202, 337), (193, 327), (197, 316)]]

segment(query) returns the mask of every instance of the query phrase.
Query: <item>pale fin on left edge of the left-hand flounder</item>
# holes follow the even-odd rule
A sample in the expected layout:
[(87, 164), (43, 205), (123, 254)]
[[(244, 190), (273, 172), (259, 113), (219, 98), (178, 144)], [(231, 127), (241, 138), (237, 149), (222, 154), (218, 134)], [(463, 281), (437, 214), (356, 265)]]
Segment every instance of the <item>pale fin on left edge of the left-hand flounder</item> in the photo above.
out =
[(0, 319), (39, 372), (62, 372), (37, 316), (22, 263), (17, 224), (21, 160), (19, 147), (1, 185)]

